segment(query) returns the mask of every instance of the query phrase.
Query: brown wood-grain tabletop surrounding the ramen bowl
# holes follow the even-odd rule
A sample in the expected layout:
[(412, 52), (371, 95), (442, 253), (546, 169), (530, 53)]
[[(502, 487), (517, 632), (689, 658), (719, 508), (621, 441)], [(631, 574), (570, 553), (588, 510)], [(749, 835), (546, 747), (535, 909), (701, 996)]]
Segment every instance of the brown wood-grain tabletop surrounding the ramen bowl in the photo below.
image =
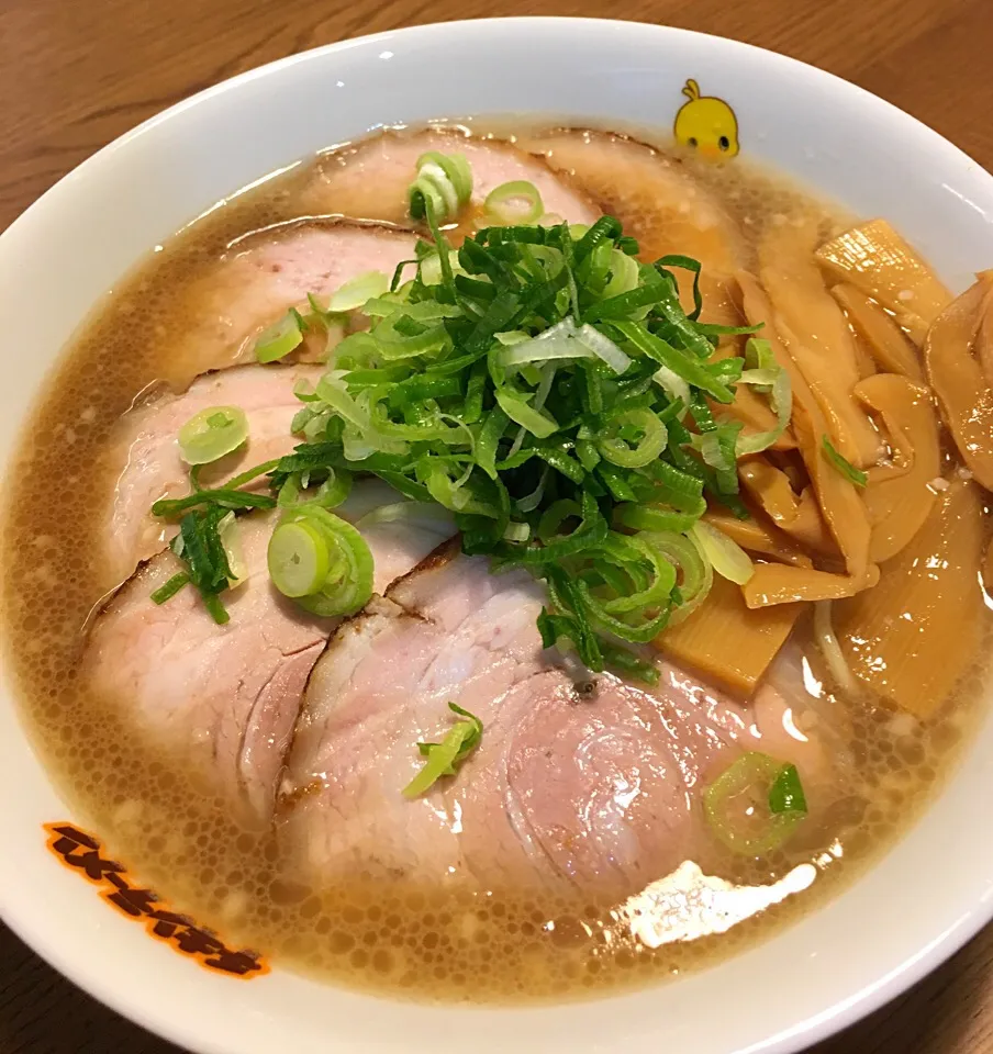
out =
[[(122, 132), (271, 59), (443, 19), (606, 10), (595, 0), (0, 0), (0, 229)], [(628, 0), (610, 11), (829, 69), (993, 169), (993, 0)], [(78, 991), (0, 926), (0, 1054), (103, 1052), (176, 1049)], [(811, 1054), (990, 1052), (993, 928)]]

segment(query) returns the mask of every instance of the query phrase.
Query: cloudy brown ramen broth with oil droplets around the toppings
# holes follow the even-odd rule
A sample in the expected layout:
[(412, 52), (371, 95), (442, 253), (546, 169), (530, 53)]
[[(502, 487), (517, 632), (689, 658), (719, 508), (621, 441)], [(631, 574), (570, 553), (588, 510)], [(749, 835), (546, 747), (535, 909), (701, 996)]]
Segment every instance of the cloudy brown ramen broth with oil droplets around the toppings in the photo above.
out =
[[(741, 159), (714, 166), (677, 156), (749, 246), (770, 226), (814, 222), (827, 238), (850, 223)], [(346, 150), (313, 165), (348, 160)], [(837, 689), (810, 615), (801, 617), (771, 676), (800, 685), (806, 719), (844, 752), (846, 793), (769, 856), (718, 848), (620, 899), (576, 886), (479, 889), (446, 874), (429, 883), (354, 874), (321, 888), (267, 825), (232, 816), (188, 756), (137, 732), (127, 713), (81, 683), (86, 627), (103, 585), (94, 554), (104, 509), (93, 496), (121, 469), (111, 463), (111, 429), (153, 382), (190, 380), (170, 358), (198, 323), (185, 291), (236, 239), (310, 215), (313, 165), (232, 198), (122, 279), (45, 385), (12, 462), (0, 535), (8, 652), (34, 740), (79, 817), (143, 884), (230, 946), (417, 998), (607, 993), (712, 963), (823, 904), (892, 844), (948, 771), (978, 709), (985, 646), (952, 700), (918, 721)], [(946, 441), (947, 475), (956, 471), (951, 453)]]

